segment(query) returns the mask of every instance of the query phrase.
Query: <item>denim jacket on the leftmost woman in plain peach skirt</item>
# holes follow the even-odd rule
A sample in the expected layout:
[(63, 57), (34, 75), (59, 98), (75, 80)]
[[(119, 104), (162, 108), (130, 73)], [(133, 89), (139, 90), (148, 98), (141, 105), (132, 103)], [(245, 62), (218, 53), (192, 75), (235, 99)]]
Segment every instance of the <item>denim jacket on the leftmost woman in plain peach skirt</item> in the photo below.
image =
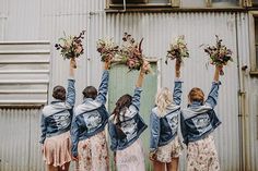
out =
[(59, 135), (70, 130), (72, 110), (75, 103), (74, 82), (74, 80), (68, 80), (66, 101), (56, 99), (43, 108), (39, 143), (44, 144), (46, 137)]

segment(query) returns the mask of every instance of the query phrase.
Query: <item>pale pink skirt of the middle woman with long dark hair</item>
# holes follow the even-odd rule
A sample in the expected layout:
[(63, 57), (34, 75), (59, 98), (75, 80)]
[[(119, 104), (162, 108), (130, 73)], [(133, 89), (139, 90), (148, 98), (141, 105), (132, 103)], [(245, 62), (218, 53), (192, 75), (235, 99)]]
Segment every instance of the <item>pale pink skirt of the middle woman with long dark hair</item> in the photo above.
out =
[(145, 171), (144, 154), (141, 141), (122, 150), (116, 151), (117, 171)]

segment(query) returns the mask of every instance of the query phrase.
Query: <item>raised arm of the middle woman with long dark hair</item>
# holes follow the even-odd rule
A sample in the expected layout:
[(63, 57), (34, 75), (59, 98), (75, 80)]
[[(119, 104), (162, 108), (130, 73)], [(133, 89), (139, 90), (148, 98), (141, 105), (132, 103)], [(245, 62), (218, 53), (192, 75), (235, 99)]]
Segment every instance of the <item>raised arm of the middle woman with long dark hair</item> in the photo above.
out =
[(140, 99), (141, 99), (141, 91), (142, 91), (141, 87), (142, 87), (142, 84), (143, 84), (145, 72), (149, 70), (149, 68), (150, 68), (149, 62), (144, 61), (143, 64), (142, 64), (142, 68), (140, 70), (139, 76), (137, 78), (134, 95), (132, 97), (131, 103), (138, 110), (140, 110)]

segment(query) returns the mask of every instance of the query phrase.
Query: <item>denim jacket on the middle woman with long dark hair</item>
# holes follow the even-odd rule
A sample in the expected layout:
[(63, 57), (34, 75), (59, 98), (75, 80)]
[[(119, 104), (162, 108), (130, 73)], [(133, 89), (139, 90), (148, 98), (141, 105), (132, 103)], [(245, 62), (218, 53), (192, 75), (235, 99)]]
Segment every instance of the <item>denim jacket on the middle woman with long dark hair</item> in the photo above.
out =
[[(141, 88), (139, 87), (134, 89), (131, 106), (120, 113), (119, 123), (116, 122), (114, 114), (110, 115), (108, 120), (110, 148), (114, 151), (122, 150), (132, 145), (146, 129), (146, 124), (139, 114), (141, 91)], [(124, 136), (118, 133), (118, 130), (116, 129), (118, 125)]]

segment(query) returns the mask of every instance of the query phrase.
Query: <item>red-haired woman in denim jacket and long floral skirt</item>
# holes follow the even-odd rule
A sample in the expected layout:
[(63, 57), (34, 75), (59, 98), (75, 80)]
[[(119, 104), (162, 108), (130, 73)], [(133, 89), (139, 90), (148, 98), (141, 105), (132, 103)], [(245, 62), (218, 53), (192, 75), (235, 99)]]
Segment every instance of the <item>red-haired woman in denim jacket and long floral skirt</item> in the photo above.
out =
[(180, 125), (184, 143), (187, 145), (187, 171), (219, 171), (219, 158), (214, 138), (211, 133), (221, 124), (214, 107), (216, 106), (220, 71), (215, 66), (214, 78), (210, 94), (204, 101), (200, 88), (192, 88), (188, 94), (189, 105), (181, 110)]

